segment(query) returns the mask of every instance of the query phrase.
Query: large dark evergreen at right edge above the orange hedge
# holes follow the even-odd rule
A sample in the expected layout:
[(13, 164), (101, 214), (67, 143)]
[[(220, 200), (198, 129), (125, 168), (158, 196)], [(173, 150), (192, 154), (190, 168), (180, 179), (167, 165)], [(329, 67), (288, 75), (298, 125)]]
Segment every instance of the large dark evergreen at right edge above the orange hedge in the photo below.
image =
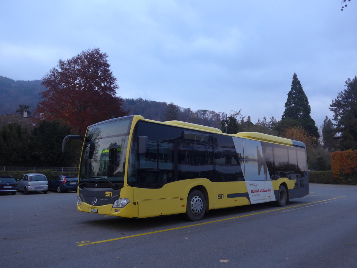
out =
[(357, 149), (357, 77), (345, 81), (345, 89), (332, 100), (330, 110), (336, 122), (336, 132), (341, 133), (341, 150)]

